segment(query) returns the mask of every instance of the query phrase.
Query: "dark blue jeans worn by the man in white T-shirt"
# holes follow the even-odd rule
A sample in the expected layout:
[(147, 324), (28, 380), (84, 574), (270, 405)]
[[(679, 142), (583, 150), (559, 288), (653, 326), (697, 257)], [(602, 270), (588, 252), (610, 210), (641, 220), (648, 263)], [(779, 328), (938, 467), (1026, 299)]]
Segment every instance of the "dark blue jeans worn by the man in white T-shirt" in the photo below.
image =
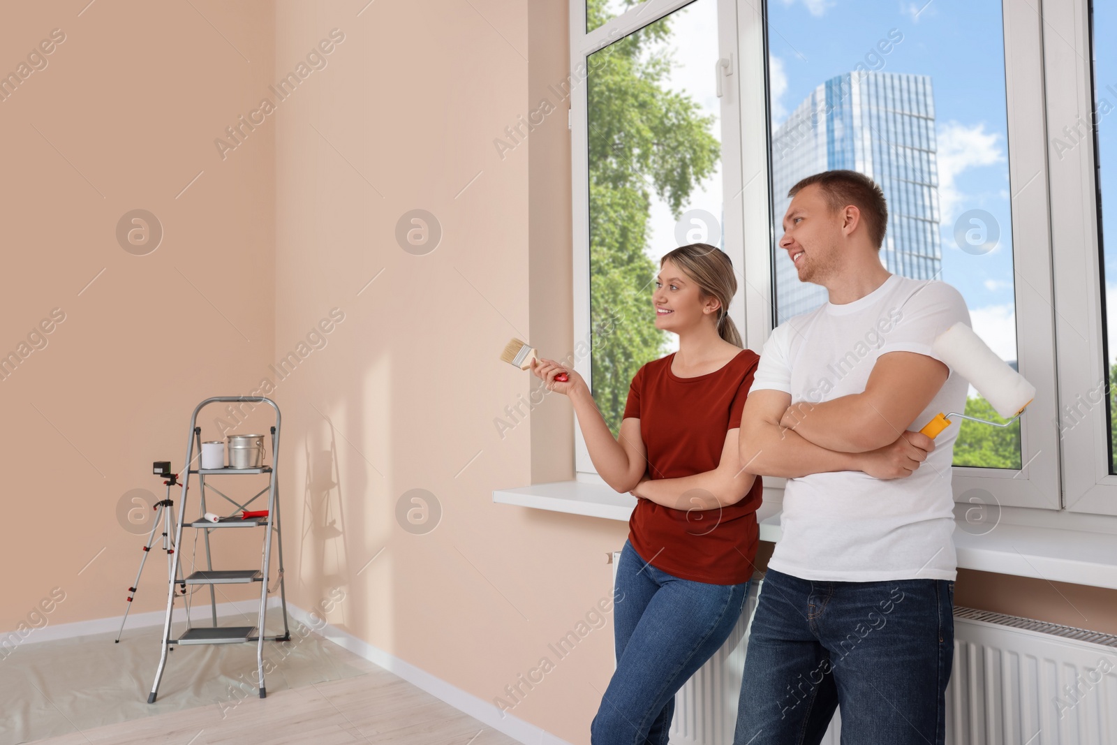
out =
[(954, 582), (813, 582), (768, 570), (753, 617), (734, 745), (942, 745)]

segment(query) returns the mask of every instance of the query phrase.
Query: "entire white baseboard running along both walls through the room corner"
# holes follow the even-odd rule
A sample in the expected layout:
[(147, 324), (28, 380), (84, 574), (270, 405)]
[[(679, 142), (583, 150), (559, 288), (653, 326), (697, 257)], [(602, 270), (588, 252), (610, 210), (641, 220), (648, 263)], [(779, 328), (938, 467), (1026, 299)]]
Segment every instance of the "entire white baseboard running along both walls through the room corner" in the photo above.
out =
[[(278, 598), (268, 598), (269, 611), (278, 605)], [(259, 610), (260, 603), (258, 600), (239, 600), (236, 602), (218, 603), (217, 605), (218, 618), (244, 613), (255, 619), (258, 615)], [(363, 639), (357, 639), (347, 631), (342, 631), (331, 623), (322, 625), (321, 617), (317, 617), (312, 621), (309, 613), (304, 611), (298, 605), (287, 603), (287, 612), (290, 614), (290, 618), (297, 620), (304, 625), (309, 627), (311, 629), (314, 629), (314, 631), (321, 637), (328, 639), (338, 647), (347, 649), (354, 655), (363, 657), (370, 662), (379, 665), (390, 672), (398, 675), (400, 678), (403, 678), (417, 688), (420, 688), (431, 696), (446, 701), (462, 714), (468, 714), (481, 724), (488, 725), (493, 729), (504, 733), (517, 742), (524, 743), (525, 745), (570, 745), (566, 741), (552, 735), (545, 729), (542, 729), (528, 722), (524, 722), (519, 717), (505, 714), (489, 701), (477, 698), (472, 694), (466, 693), (460, 688), (448, 684), (441, 678), (438, 678), (426, 670), (411, 665), (410, 662), (401, 660), (394, 655), (385, 652), (378, 647), (373, 647), (369, 642)], [(165, 610), (149, 611), (146, 613), (128, 613), (127, 623), (124, 625), (124, 633), (122, 634), (122, 638), (127, 636), (128, 629), (160, 625), (163, 623), (165, 618)], [(179, 608), (178, 603), (175, 603), (175, 623), (184, 621), (185, 618), (185, 609)], [(209, 618), (212, 618), (212, 611), (211, 605), (208, 603), (194, 603), (190, 609), (190, 619), (192, 621)], [(75, 637), (85, 637), (94, 633), (116, 632), (120, 631), (121, 621), (123, 619), (123, 615), (116, 615), (113, 618), (93, 619), (90, 621), (75, 621), (73, 623), (48, 623), (39, 629), (32, 629), (26, 638), (22, 638), (21, 641), (16, 644), (16, 647), (18, 648), (20, 644), (30, 644), (40, 641), (73, 639)], [(10, 631), (0, 633), (0, 642), (4, 641), (9, 637), (19, 638), (19, 632)], [(15, 650), (12, 649), (12, 651)]]

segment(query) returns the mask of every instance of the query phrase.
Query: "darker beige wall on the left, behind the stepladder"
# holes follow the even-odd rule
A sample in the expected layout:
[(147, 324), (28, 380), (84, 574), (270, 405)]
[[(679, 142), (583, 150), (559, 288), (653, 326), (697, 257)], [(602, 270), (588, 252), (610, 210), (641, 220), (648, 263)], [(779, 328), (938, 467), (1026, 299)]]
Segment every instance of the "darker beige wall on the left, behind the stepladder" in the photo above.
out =
[[(152, 461), (181, 469), (193, 407), (251, 385), (274, 348), (274, 127), (225, 162), (213, 145), (270, 83), (273, 10), (194, 3), (238, 51), (188, 3), (85, 4), (17, 3), (0, 23), (3, 73), (65, 35), (0, 102), (0, 353), (65, 314), (0, 382), (4, 630), (55, 588), (49, 623), (124, 612), (146, 536), (123, 529), (121, 498), (163, 498)], [(163, 227), (146, 256), (115, 237), (137, 208)], [(216, 541), (226, 566), (258, 555)], [(134, 611), (165, 608), (164, 557), (151, 554)]]

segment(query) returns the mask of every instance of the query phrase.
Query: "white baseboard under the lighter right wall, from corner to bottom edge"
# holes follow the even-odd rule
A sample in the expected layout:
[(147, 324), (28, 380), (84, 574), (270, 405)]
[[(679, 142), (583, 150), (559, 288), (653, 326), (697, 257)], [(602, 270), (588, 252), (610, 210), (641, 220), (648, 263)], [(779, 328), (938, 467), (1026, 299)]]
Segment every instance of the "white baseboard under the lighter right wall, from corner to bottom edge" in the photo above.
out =
[(545, 729), (541, 729), (528, 722), (524, 722), (519, 717), (505, 714), (489, 701), (477, 698), (472, 694), (466, 693), (460, 688), (448, 684), (441, 678), (437, 678), (426, 670), (401, 660), (394, 655), (385, 652), (378, 647), (373, 647), (369, 642), (363, 639), (357, 639), (347, 631), (342, 631), (331, 623), (322, 625), (321, 617), (312, 622), (309, 614), (297, 605), (287, 603), (287, 611), (290, 613), (292, 618), (311, 627), (316, 633), (328, 639), (338, 647), (347, 649), (354, 655), (359, 655), (370, 662), (374, 662), (385, 670), (389, 670), (390, 672), (394, 672), (416, 688), (426, 690), (435, 698), (446, 701), (459, 711), (468, 714), (481, 724), (488, 725), (493, 729), (504, 733), (519, 743), (524, 743), (525, 745), (570, 745), (566, 741), (552, 735)]

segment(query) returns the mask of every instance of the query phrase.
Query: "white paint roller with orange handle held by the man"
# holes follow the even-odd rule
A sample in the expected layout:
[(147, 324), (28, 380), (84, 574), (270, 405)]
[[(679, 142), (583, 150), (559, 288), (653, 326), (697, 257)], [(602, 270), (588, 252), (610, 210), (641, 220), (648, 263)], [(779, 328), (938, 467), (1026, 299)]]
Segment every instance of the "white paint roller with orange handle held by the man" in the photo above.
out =
[(993, 350), (989, 348), (985, 342), (981, 341), (981, 337), (961, 321), (936, 336), (930, 348), (951, 370), (970, 381), (970, 384), (985, 397), (996, 413), (1009, 420), (1003, 423), (991, 422), (986, 419), (967, 417), (957, 411), (947, 414), (939, 412), (919, 430), (932, 439), (935, 439), (939, 432), (951, 426), (951, 417), (961, 417), (994, 427), (1008, 427), (1035, 398), (1035, 386), (1010, 367), (1004, 360), (996, 356)]

